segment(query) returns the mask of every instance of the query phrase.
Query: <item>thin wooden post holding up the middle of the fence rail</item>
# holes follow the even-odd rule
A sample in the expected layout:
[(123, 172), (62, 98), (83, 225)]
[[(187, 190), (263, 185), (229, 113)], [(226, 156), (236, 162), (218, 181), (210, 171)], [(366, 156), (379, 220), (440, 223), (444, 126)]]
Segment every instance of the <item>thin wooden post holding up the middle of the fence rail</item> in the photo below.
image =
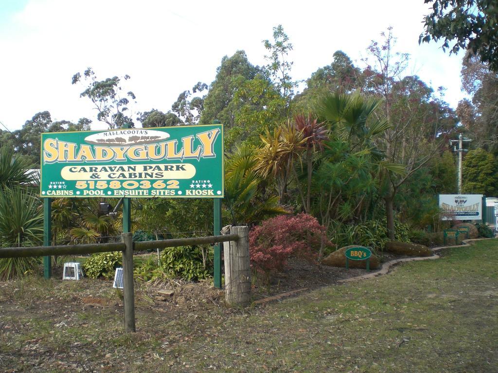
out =
[(135, 331), (135, 294), (133, 289), (133, 236), (123, 233), (123, 295), (124, 295), (124, 328)]

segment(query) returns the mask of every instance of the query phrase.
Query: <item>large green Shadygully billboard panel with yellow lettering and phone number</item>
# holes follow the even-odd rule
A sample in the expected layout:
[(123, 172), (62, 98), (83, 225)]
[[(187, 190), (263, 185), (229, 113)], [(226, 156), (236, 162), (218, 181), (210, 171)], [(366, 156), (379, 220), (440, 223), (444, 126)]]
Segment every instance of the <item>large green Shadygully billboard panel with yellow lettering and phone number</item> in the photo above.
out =
[(42, 133), (40, 195), (223, 198), (223, 126)]

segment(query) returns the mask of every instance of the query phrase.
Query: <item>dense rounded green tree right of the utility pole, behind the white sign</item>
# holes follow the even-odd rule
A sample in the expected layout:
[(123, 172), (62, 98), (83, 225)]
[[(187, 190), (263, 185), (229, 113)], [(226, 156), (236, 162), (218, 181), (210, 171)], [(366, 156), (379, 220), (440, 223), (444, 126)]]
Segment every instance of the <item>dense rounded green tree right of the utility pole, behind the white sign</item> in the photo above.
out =
[(463, 161), (464, 193), (498, 195), (498, 163), (484, 149), (471, 150)]

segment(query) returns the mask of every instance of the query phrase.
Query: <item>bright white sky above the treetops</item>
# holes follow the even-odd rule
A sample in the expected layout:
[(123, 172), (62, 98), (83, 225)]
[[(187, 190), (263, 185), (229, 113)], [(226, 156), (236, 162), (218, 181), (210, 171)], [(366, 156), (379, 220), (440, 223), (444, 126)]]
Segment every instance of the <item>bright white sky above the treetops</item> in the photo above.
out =
[(225, 55), (243, 49), (252, 64), (265, 64), (261, 41), (278, 24), (294, 45), (296, 80), (330, 64), (339, 49), (362, 67), (371, 40), (392, 26), (396, 49), (411, 55), (407, 73), (447, 88), (456, 108), (464, 97), (461, 57), (418, 45), (428, 9), (423, 0), (0, 0), (0, 121), (14, 130), (48, 110), (52, 120), (86, 116), (92, 128), (106, 128), (79, 97), (83, 87), (71, 85), (89, 66), (99, 79), (130, 75), (134, 111), (166, 112), (180, 92), (209, 85)]

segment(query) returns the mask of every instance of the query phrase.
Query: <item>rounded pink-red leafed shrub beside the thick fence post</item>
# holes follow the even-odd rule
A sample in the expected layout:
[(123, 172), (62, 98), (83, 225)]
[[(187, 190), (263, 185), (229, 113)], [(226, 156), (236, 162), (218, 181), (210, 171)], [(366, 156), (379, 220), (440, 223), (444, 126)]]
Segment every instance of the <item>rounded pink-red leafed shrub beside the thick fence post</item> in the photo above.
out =
[(268, 278), (270, 272), (282, 271), (290, 257), (314, 260), (322, 239), (324, 245), (332, 245), (325, 228), (304, 212), (265, 220), (249, 232), (251, 267)]

